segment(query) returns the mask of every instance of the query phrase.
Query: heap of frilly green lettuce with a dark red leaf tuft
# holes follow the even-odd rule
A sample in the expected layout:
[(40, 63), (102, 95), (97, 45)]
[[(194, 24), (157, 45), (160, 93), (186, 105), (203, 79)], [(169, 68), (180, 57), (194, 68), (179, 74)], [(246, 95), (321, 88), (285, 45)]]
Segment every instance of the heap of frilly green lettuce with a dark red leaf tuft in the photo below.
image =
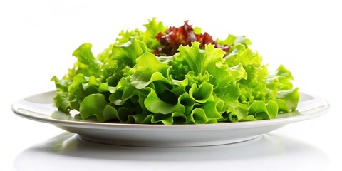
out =
[(91, 44), (56, 83), (58, 110), (98, 122), (204, 124), (274, 119), (296, 109), (298, 88), (284, 66), (269, 72), (244, 36), (214, 40), (185, 21), (151, 19), (121, 31), (98, 56)]

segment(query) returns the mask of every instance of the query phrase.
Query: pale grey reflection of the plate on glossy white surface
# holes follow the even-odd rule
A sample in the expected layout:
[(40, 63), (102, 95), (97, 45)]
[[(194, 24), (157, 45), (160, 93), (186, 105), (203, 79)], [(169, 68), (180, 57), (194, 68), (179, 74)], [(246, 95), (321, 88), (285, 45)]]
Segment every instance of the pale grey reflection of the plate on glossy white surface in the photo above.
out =
[(126, 147), (62, 133), (21, 152), (16, 170), (324, 170), (327, 155), (280, 135), (207, 147)]

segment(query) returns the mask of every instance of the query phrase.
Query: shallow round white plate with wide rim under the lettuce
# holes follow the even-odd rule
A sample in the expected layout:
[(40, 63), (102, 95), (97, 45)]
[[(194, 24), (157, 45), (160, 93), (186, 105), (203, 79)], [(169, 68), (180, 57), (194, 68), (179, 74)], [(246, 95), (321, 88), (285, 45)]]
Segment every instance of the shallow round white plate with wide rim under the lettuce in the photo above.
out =
[(296, 111), (279, 114), (273, 120), (203, 125), (98, 123), (79, 120), (59, 112), (53, 106), (54, 96), (54, 91), (32, 95), (17, 100), (11, 108), (17, 115), (51, 123), (63, 130), (77, 133), (84, 140), (145, 147), (191, 147), (243, 142), (289, 123), (316, 118), (329, 108), (326, 100), (301, 93)]

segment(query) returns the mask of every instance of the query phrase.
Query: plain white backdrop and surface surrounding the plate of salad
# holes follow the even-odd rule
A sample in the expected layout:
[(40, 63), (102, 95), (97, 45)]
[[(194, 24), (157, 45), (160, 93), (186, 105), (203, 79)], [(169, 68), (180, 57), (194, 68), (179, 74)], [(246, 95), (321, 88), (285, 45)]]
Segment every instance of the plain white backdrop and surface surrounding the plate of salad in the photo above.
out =
[[(0, 170), (342, 170), (341, 9), (337, 0), (1, 0)], [(264, 63), (270, 68), (283, 63), (302, 92), (325, 98), (331, 110), (264, 135), (246, 148), (139, 152), (89, 147), (92, 144), (53, 125), (11, 112), (16, 99), (53, 90), (50, 78), (71, 68), (75, 61), (71, 54), (81, 43), (92, 43), (97, 54), (115, 41), (120, 30), (143, 28), (154, 16), (167, 26), (189, 20), (214, 38), (229, 33), (247, 36)], [(73, 142), (63, 147), (54, 145), (69, 139)]]

